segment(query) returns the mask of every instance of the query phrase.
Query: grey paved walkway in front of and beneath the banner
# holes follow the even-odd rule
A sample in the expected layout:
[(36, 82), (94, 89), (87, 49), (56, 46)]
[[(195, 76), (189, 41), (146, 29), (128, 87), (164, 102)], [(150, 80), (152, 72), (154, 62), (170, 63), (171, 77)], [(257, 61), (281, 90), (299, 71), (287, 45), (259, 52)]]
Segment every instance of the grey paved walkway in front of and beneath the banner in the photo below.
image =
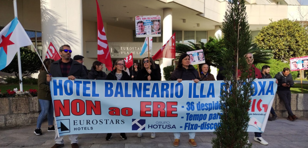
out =
[[(43, 135), (35, 135), (36, 125), (24, 125), (14, 128), (0, 129), (0, 148), (50, 148), (55, 144), (54, 132), (47, 132), (47, 122), (42, 125)], [(173, 133), (156, 133), (151, 139), (150, 133), (144, 133), (138, 138), (137, 133), (127, 133), (127, 140), (122, 140), (119, 133), (113, 134), (110, 141), (105, 140), (106, 134), (79, 134), (80, 148), (174, 148)], [(261, 145), (253, 140), (254, 134), (249, 133), (253, 148), (307, 148), (308, 147), (308, 118), (300, 118), (294, 122), (285, 118), (268, 121), (262, 137), (268, 145)], [(197, 147), (212, 147), (212, 132), (196, 133)], [(64, 148), (70, 148), (68, 136), (64, 138)], [(188, 134), (182, 133), (179, 148), (191, 147), (188, 144)]]

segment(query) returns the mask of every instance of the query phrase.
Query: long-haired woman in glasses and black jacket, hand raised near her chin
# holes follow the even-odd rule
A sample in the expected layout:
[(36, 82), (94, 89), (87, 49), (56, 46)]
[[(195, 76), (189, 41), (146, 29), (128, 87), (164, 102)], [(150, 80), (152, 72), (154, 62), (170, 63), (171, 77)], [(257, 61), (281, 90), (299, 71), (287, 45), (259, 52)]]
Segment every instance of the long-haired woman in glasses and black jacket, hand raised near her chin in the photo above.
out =
[[(159, 67), (158, 67), (159, 68)], [(141, 70), (138, 72), (137, 80), (139, 81), (160, 81), (160, 70), (158, 70), (154, 64), (152, 58), (146, 57), (141, 61)], [(142, 137), (142, 133), (138, 133), (137, 137)], [(151, 133), (151, 138), (155, 138), (155, 133)]]

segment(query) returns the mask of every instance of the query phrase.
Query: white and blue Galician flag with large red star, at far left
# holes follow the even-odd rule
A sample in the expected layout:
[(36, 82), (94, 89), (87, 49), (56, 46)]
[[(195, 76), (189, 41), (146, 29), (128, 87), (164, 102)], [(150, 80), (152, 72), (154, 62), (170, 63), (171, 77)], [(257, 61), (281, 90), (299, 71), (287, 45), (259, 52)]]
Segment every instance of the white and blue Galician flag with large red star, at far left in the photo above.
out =
[(20, 47), (29, 46), (32, 41), (16, 17), (1, 30), (0, 36), (0, 70), (2, 70), (12, 62)]

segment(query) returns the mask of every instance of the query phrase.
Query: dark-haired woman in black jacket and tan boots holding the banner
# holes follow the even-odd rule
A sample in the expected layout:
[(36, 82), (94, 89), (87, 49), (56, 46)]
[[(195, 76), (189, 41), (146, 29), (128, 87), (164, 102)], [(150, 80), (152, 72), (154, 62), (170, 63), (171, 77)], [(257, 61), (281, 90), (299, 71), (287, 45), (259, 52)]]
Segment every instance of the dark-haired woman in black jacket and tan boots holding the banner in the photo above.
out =
[[(182, 80), (192, 80), (195, 83), (198, 83), (200, 81), (200, 77), (198, 74), (198, 71), (189, 64), (190, 63), (190, 57), (188, 54), (183, 53), (178, 62), (178, 69), (176, 69), (170, 77), (170, 80), (178, 81), (179, 83), (182, 82)], [(174, 134), (174, 146), (180, 145), (180, 132), (173, 133)], [(195, 142), (195, 132), (188, 132), (189, 134), (189, 140), (188, 143), (192, 146), (197, 146), (197, 143)]]

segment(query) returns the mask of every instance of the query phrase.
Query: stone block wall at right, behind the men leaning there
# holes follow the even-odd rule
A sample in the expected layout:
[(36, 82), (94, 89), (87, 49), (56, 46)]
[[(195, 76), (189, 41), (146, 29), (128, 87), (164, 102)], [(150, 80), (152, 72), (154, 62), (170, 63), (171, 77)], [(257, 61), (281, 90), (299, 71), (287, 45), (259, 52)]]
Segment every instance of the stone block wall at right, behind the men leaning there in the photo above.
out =
[[(276, 94), (273, 108), (278, 116), (287, 118), (288, 112), (284, 107), (284, 102)], [(308, 94), (291, 94), (291, 109), (297, 117), (308, 117)]]

